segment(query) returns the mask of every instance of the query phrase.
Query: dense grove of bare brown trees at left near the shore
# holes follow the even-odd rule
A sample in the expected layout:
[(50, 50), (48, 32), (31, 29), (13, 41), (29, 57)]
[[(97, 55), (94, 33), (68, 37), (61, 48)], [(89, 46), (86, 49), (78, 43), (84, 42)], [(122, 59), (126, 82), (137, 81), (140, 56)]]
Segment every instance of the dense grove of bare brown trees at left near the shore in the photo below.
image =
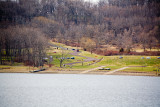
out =
[(24, 62), (43, 66), (46, 46), (47, 40), (39, 29), (23, 26), (0, 29), (0, 64)]

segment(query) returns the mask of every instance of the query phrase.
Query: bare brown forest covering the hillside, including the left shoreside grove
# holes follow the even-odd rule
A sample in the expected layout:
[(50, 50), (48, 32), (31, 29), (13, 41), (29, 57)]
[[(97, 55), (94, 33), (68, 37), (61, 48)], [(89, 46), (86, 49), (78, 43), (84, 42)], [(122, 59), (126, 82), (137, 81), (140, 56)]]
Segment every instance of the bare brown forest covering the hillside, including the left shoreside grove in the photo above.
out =
[(0, 0), (0, 64), (42, 66), (49, 40), (103, 55), (159, 49), (159, 10), (159, 0)]

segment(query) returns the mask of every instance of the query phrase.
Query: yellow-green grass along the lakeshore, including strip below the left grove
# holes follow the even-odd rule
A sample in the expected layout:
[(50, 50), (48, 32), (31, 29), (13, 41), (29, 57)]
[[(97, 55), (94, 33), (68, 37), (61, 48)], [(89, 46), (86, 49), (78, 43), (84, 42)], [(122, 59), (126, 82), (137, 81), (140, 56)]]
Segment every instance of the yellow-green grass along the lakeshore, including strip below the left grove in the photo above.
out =
[[(69, 48), (69, 49), (77, 49), (77, 47), (71, 47), (71, 46), (66, 46), (61, 43), (54, 43), (57, 46)], [(58, 58), (62, 56), (62, 50), (61, 49), (56, 49), (54, 47), (50, 47), (47, 49), (47, 55), (48, 56), (53, 56), (53, 61), (51, 64), (53, 65), (50, 69), (52, 70), (71, 70), (71, 71), (83, 71), (83, 70), (88, 70), (100, 66), (105, 66), (105, 68), (110, 68), (111, 70), (119, 69), (122, 67), (130, 66), (130, 68), (127, 68), (123, 71), (127, 72), (156, 72), (157, 68), (155, 65), (160, 65), (160, 59), (157, 59), (158, 56), (123, 56), (123, 59), (119, 59), (120, 56), (101, 56), (97, 55), (94, 53), (90, 53), (87, 51), (83, 51), (81, 48), (80, 49), (80, 54), (81, 56), (86, 56), (86, 57), (92, 57), (96, 59), (103, 58), (102, 61), (93, 64), (93, 61), (90, 62), (83, 62), (83, 63), (77, 63), (74, 65), (66, 65), (63, 68), (60, 68), (60, 61)], [(73, 62), (81, 62), (83, 61), (84, 57), (79, 57), (79, 56), (73, 56), (69, 53), (72, 53), (72, 50), (65, 50), (65, 57), (75, 57), (75, 59), (65, 59), (63, 64), (66, 63), (73, 63)], [(142, 59), (144, 57), (144, 59)], [(146, 59), (147, 57), (150, 57), (151, 59)], [(143, 66), (143, 67), (142, 67)], [(48, 67), (48, 65), (45, 65), (45, 67)], [(14, 64), (13, 66), (9, 65), (0, 65), (0, 69), (8, 68), (9, 71), (12, 71), (11, 69), (14, 69), (13, 71), (16, 70), (25, 70), (29, 71), (29, 67), (23, 66), (23, 64)], [(34, 69), (34, 68), (30, 68)], [(36, 68), (35, 68), (36, 69)], [(7, 71), (7, 69), (4, 69)], [(3, 70), (3, 71), (4, 71)]]

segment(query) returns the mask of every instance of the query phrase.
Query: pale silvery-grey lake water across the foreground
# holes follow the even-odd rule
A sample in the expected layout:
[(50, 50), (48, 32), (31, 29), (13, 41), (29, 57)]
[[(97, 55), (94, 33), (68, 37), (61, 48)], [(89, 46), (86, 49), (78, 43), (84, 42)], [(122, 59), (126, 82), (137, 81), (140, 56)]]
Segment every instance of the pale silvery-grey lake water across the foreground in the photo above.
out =
[(160, 107), (160, 78), (1, 73), (0, 107)]

